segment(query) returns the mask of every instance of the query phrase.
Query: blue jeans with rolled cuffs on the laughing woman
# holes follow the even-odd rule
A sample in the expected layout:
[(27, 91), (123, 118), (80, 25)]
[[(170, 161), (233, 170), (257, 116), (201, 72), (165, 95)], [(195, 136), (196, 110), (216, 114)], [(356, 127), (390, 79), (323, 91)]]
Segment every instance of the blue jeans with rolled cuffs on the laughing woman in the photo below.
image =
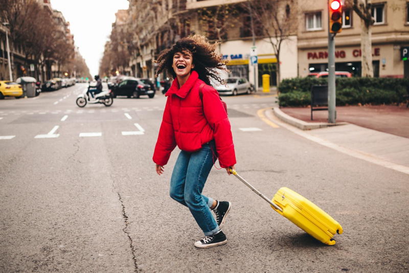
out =
[(210, 211), (213, 199), (201, 194), (217, 159), (213, 158), (212, 148), (215, 151), (213, 141), (196, 152), (180, 151), (170, 179), (170, 197), (189, 208), (205, 236), (220, 230)]

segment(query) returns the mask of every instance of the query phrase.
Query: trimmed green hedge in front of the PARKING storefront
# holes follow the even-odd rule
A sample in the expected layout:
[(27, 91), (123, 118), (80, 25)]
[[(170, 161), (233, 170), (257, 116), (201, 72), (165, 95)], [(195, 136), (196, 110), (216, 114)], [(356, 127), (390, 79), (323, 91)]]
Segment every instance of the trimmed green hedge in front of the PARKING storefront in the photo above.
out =
[[(285, 79), (279, 86), (280, 106), (307, 106), (311, 103), (311, 86), (328, 84), (328, 79)], [(406, 94), (409, 78), (336, 78), (336, 105), (391, 104), (399, 100), (398, 87)]]

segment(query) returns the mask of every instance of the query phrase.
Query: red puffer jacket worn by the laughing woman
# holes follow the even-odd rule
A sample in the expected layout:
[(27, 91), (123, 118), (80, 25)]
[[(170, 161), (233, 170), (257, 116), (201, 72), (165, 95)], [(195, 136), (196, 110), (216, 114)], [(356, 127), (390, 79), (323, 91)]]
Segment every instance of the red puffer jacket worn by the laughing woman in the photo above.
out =
[(193, 71), (180, 89), (178, 81), (174, 80), (166, 93), (168, 100), (153, 153), (156, 164), (166, 165), (176, 145), (180, 150), (194, 152), (213, 139), (220, 166), (226, 168), (236, 164), (227, 113), (219, 94), (209, 85), (202, 87), (202, 103), (199, 97), (202, 83), (197, 72)]

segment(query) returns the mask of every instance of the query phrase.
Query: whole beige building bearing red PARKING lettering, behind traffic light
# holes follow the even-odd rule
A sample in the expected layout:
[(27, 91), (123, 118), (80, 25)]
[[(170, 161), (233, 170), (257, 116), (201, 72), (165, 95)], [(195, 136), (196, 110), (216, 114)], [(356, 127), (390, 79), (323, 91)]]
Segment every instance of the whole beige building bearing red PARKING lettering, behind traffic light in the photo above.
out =
[[(298, 74), (328, 69), (328, 2), (308, 0), (298, 31)], [(408, 2), (374, 0), (372, 16), (372, 58), (375, 77), (409, 77), (409, 61), (401, 51), (409, 46)], [(361, 75), (361, 20), (350, 8), (343, 8), (343, 29), (335, 36), (335, 70)]]

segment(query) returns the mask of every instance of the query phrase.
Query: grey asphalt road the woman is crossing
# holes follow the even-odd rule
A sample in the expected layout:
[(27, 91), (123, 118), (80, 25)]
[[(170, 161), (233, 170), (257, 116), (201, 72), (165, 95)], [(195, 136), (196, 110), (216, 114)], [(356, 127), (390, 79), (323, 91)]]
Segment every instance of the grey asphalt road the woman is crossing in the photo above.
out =
[(203, 193), (232, 202), (228, 243), (195, 248), (199, 227), (169, 197), (178, 150), (164, 175), (151, 159), (165, 97), (79, 108), (84, 88), (0, 101), (0, 137), (15, 136), (0, 139), (0, 271), (409, 270), (409, 177), (270, 126), (257, 112), (274, 96), (223, 97), (237, 172), (267, 197), (288, 187), (321, 207), (344, 229), (333, 246), (213, 168)]

